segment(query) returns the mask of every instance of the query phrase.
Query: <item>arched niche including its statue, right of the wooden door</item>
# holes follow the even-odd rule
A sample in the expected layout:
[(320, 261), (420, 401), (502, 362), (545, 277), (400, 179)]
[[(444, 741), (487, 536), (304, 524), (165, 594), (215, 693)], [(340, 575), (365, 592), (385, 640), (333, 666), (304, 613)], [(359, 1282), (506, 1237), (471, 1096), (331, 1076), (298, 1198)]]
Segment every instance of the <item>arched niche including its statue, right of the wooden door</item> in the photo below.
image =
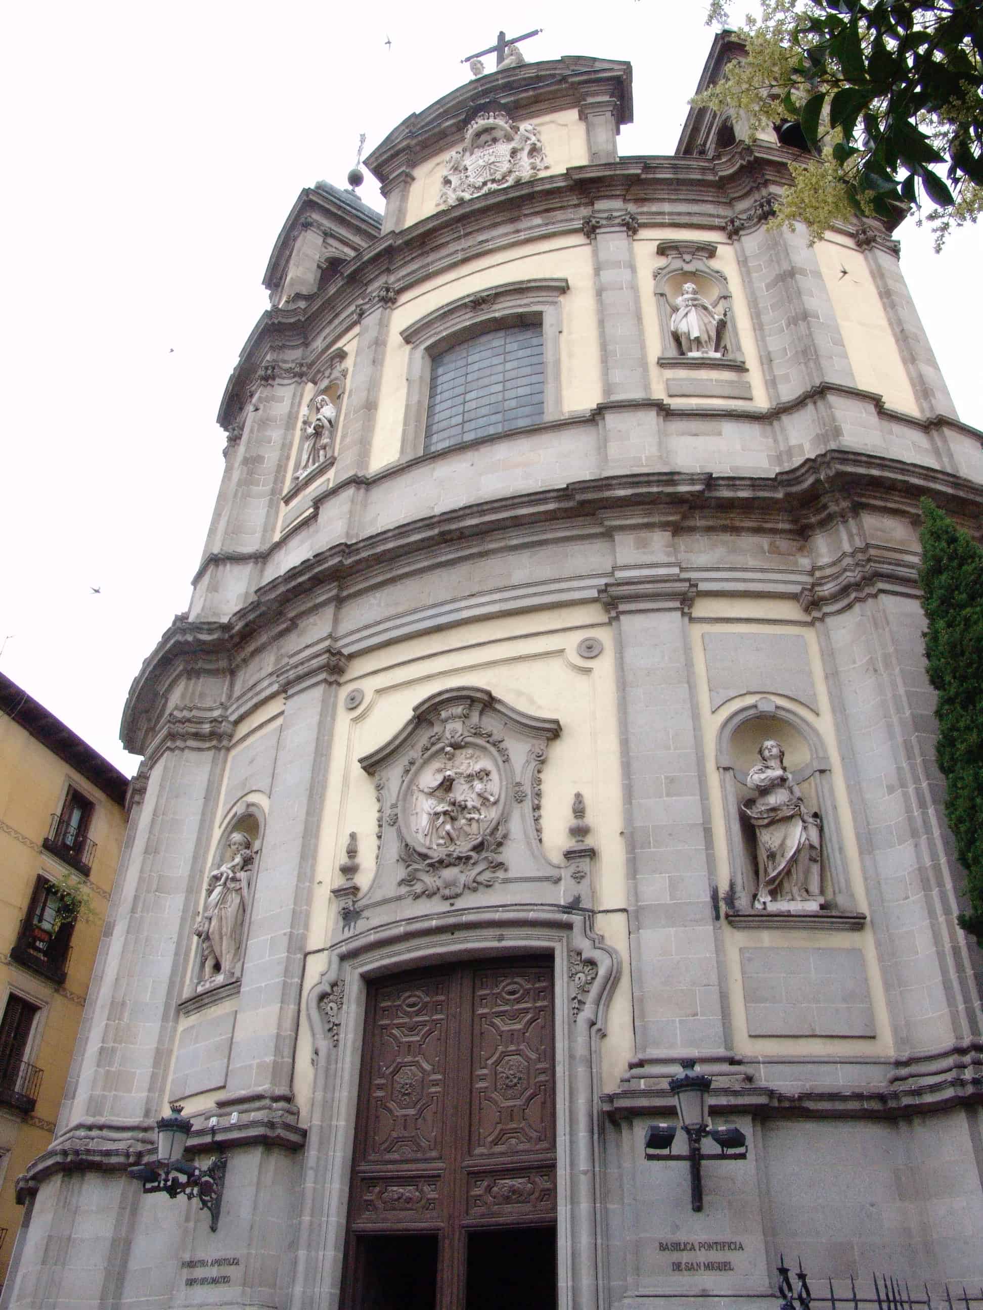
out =
[(822, 739), (769, 697), (743, 706), (717, 747), (734, 927), (860, 927)]

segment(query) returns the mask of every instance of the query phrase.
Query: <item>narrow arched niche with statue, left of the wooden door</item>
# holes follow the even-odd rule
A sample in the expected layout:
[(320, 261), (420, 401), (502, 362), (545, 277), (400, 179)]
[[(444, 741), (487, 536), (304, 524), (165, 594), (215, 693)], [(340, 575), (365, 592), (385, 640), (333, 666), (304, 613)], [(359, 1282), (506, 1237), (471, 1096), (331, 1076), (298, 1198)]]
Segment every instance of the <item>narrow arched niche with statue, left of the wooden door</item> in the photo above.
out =
[(204, 897), (194, 926), (199, 947), (195, 993), (199, 996), (237, 982), (241, 976), (260, 832), (260, 819), (252, 812), (237, 817), (219, 842), (218, 861), (204, 880)]

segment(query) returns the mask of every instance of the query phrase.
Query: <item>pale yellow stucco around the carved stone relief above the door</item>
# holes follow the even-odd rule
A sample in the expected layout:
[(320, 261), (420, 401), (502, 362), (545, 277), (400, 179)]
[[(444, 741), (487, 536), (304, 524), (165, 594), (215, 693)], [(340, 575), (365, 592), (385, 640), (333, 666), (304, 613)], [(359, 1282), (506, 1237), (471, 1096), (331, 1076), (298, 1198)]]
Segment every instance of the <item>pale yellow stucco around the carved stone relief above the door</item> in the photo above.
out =
[[(604, 642), (599, 658), (577, 655), (582, 637)], [(604, 910), (596, 926), (620, 955), (625, 968), (617, 984), (602, 1043), (603, 1079), (613, 1089), (632, 1057), (632, 1010), (628, 984), (628, 929), (624, 840), (621, 832), (621, 769), (615, 693), (613, 643), (607, 617), (598, 604), (571, 605), (464, 624), (450, 631), (417, 637), (398, 646), (353, 659), (339, 688), (364, 692), (357, 710), (338, 710), (332, 743), (332, 768), (317, 855), (315, 897), (308, 933), (304, 996), (328, 965), (328, 942), (337, 913), (330, 887), (342, 882), (349, 833), (358, 833), (364, 891), (375, 869), (376, 798), (372, 778), (358, 758), (387, 741), (410, 718), (425, 696), (450, 686), (484, 686), (530, 714), (558, 718), (562, 732), (548, 749), (543, 769), (543, 848), (562, 863), (569, 846), (570, 804), (582, 791), (590, 841), (598, 850), (594, 867), (595, 900)], [(295, 1061), (295, 1095), (307, 1121), (313, 1091), (311, 1032), (300, 1024)]]

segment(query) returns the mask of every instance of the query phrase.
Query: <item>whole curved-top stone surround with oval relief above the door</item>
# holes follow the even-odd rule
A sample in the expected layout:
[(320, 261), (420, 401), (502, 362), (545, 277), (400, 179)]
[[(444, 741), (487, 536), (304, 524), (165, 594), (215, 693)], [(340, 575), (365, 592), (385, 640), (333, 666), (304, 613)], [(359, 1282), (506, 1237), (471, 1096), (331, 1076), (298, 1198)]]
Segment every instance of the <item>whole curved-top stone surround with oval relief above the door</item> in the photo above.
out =
[[(342, 931), (459, 903), (561, 904), (568, 866), (541, 845), (541, 770), (557, 719), (526, 714), (484, 688), (421, 701), (359, 764), (375, 779), (376, 872), (342, 907)], [(354, 891), (354, 889), (353, 889)], [(569, 895), (577, 893), (577, 880)]]

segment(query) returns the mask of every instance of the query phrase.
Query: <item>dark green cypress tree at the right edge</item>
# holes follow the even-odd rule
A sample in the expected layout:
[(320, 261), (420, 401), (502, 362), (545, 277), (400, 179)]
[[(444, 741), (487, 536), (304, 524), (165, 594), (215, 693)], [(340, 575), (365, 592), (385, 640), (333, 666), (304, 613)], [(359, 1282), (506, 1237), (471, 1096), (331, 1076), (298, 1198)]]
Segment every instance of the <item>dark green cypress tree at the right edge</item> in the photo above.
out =
[(928, 677), (938, 692), (936, 760), (970, 899), (970, 913), (958, 922), (983, 946), (983, 548), (932, 500), (921, 502), (921, 512), (919, 580)]

